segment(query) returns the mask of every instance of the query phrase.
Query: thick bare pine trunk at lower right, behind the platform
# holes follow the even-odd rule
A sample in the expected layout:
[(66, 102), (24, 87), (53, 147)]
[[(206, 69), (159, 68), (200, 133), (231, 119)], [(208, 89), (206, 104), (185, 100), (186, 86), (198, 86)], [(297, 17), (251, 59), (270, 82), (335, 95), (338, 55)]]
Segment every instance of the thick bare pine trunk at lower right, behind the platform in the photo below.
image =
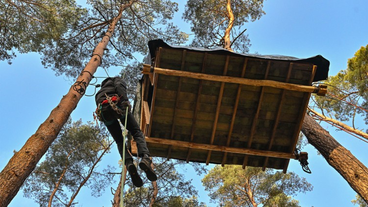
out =
[(318, 150), (349, 185), (368, 204), (368, 169), (350, 151), (342, 147), (325, 129), (308, 114), (302, 132), (308, 142)]

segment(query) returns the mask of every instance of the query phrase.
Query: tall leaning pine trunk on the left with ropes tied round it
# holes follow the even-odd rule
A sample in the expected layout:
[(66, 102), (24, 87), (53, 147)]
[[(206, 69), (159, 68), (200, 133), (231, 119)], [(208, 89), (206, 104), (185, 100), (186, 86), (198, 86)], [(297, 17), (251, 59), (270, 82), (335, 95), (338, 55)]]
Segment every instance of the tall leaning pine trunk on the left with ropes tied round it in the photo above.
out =
[[(92, 58), (83, 71), (93, 75), (101, 64), (104, 49), (114, 33), (115, 26), (121, 18), (125, 8), (132, 4), (130, 1), (120, 7), (119, 14), (109, 25), (102, 41), (96, 46)], [(85, 81), (88, 85), (91, 76), (89, 73), (81, 73), (78, 81)], [(60, 103), (51, 111), (50, 116), (40, 125), (36, 133), (26, 141), (22, 149), (9, 160), (8, 164), (0, 173), (0, 207), (6, 207), (18, 193), (22, 184), (36, 167), (38, 161), (47, 152), (51, 143), (56, 139), (63, 125), (68, 120), (72, 111), (77, 107), (82, 95), (73, 90), (63, 96)]]

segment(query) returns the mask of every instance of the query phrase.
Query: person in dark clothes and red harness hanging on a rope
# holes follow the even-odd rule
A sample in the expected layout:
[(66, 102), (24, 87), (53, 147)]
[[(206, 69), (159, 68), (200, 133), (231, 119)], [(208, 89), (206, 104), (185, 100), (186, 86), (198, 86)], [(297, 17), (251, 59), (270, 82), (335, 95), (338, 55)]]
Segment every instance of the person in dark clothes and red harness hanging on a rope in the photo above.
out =
[[(125, 127), (131, 132), (137, 145), (138, 156), (142, 158), (138, 164), (139, 168), (146, 173), (148, 180), (157, 181), (157, 175), (151, 168), (152, 160), (143, 132), (131, 113), (131, 104), (128, 100), (127, 83), (125, 80), (120, 77), (106, 78), (102, 81), (101, 89), (96, 93), (95, 99), (97, 104), (97, 115), (100, 116), (100, 120), (105, 123), (107, 130), (114, 138), (122, 158), (124, 157), (124, 137), (118, 119), (120, 119), (121, 123), (124, 125), (128, 107), (127, 126)], [(131, 176), (131, 181), (134, 186), (141, 187), (143, 181), (138, 175), (137, 168), (133, 163), (133, 157), (129, 153), (127, 147), (125, 147), (125, 166)]]

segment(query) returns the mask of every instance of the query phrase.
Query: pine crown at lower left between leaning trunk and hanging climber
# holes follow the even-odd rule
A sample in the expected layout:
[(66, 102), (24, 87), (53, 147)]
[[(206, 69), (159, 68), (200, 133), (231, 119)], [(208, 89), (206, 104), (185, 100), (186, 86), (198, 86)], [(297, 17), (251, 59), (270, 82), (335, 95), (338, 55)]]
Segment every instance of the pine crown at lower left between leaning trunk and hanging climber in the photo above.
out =
[(112, 175), (107, 172), (113, 169), (107, 166), (98, 171), (96, 164), (108, 153), (110, 145), (105, 129), (69, 120), (49, 148), (45, 160), (26, 180), (24, 196), (33, 198), (40, 206), (47, 206), (55, 191), (53, 206), (61, 207), (77, 195), (83, 184), (92, 190), (93, 196), (100, 196), (111, 184)]

